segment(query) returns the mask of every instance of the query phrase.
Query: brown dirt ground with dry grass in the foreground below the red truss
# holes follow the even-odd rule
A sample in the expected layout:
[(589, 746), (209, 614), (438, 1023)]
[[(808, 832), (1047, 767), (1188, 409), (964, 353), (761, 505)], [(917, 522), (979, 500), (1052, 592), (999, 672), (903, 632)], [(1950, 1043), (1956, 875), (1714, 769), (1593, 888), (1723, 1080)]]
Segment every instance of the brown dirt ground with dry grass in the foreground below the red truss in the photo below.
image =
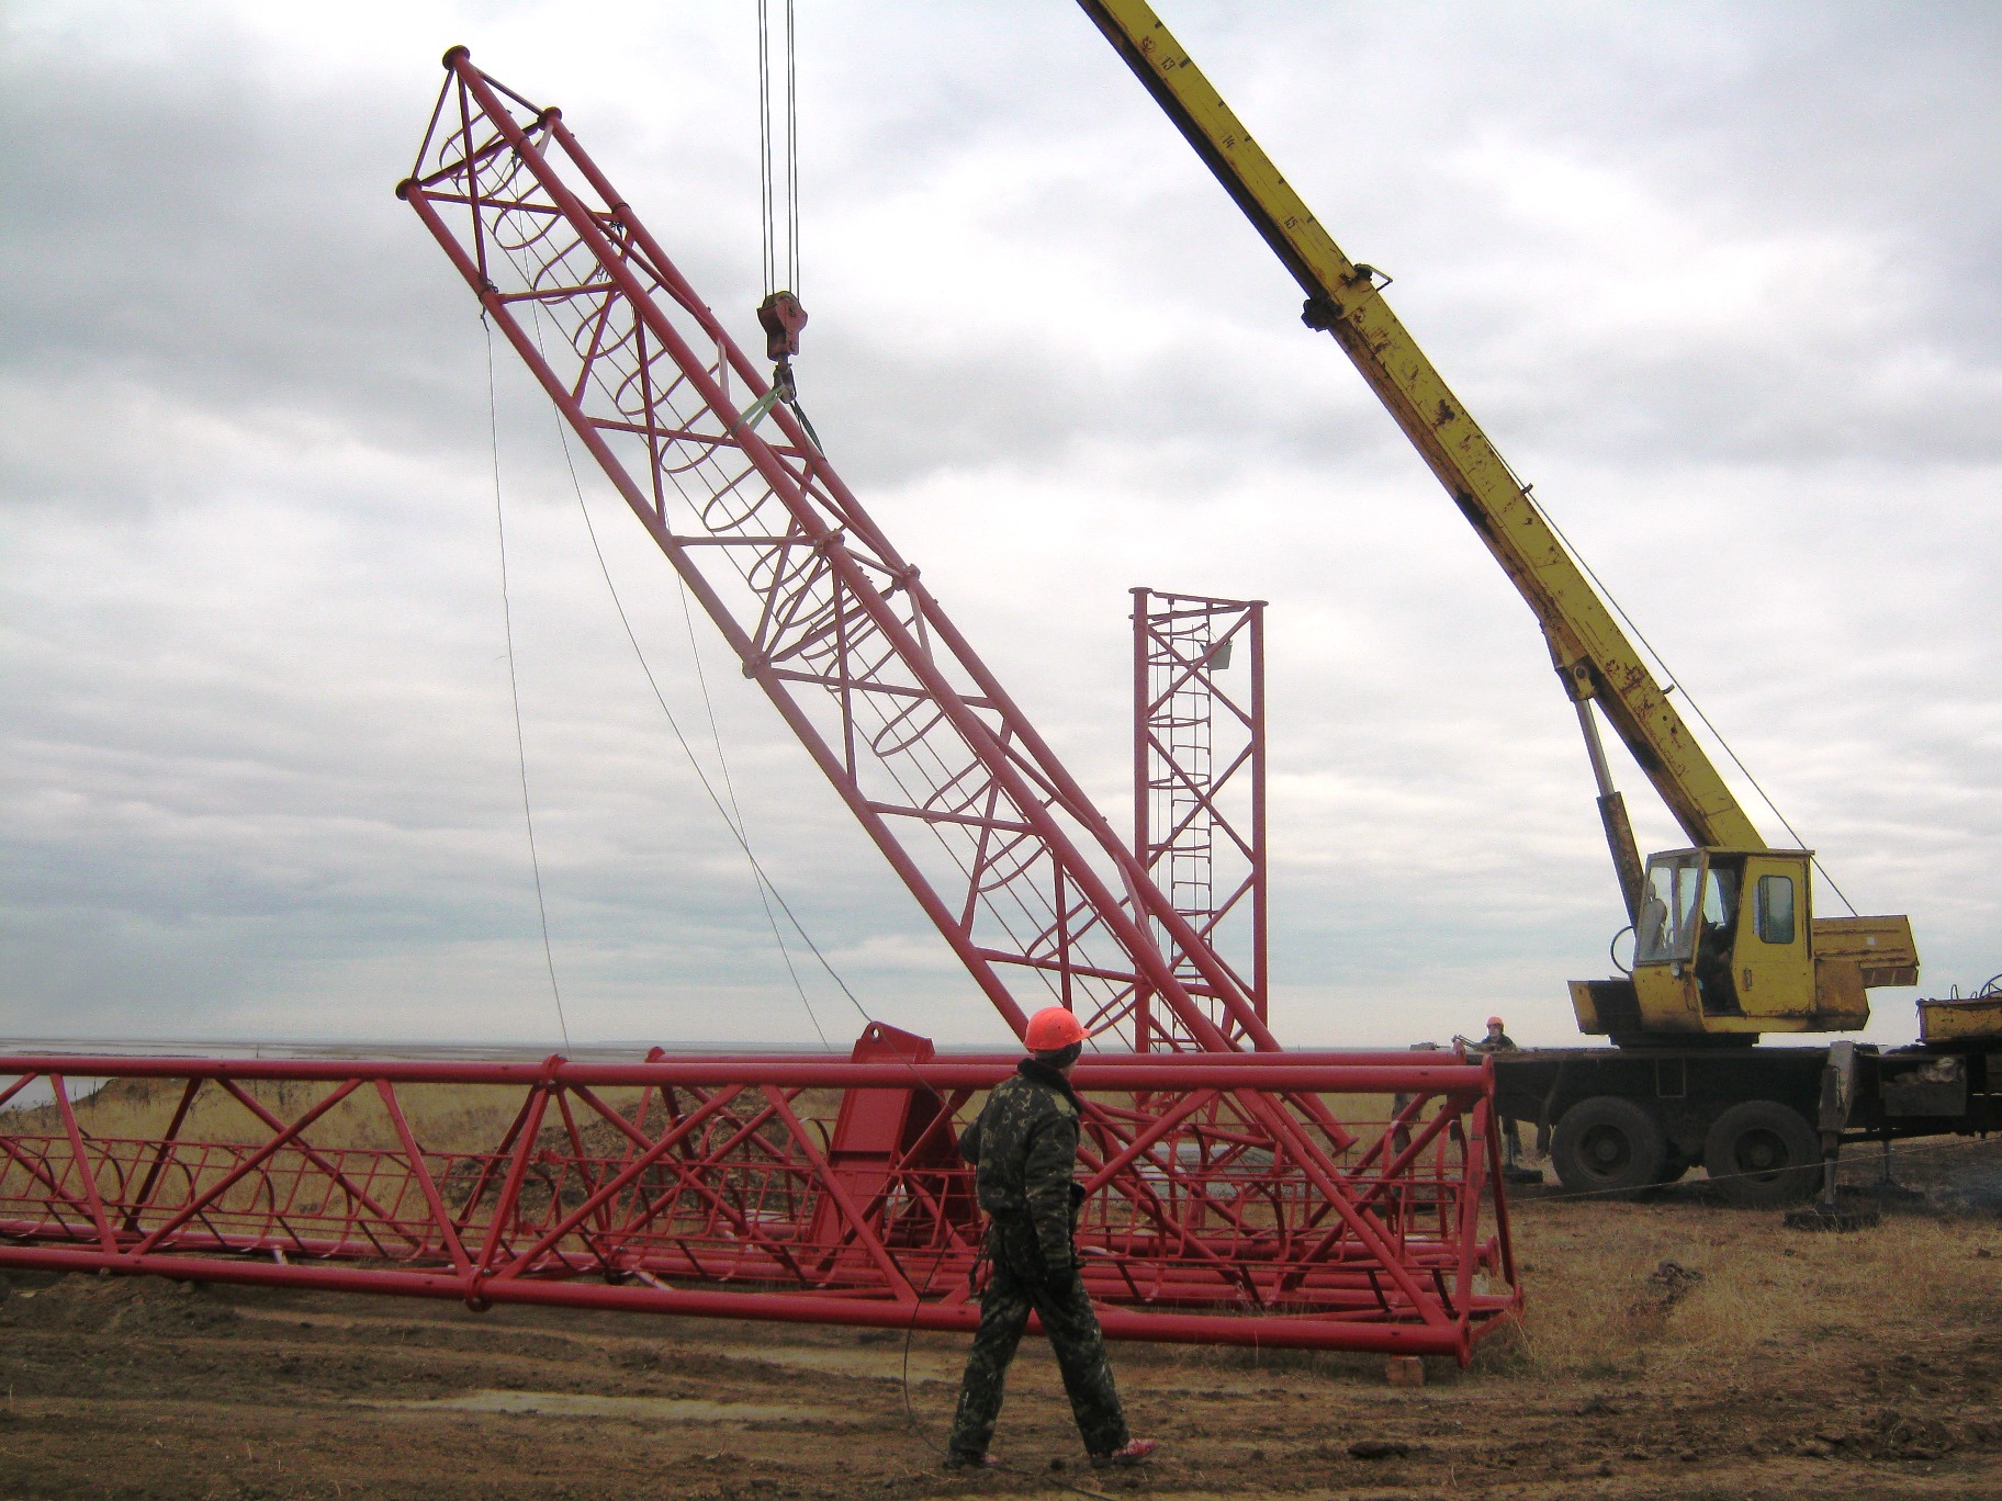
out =
[(949, 1475), (963, 1339), (16, 1275), (0, 1495), (2002, 1497), (1998, 1147), (1902, 1155), (1852, 1235), (1522, 1191), (1530, 1315), (1471, 1369), (1119, 1345), (1161, 1455), (1115, 1475), (1033, 1343), (1007, 1469)]

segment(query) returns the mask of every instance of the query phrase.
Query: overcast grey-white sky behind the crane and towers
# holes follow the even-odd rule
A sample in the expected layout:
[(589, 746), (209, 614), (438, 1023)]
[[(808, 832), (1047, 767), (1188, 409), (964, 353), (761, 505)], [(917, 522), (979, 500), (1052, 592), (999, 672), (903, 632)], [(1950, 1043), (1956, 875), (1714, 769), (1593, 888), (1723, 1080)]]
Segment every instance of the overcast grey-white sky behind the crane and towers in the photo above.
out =
[[(486, 346), (390, 188), (464, 42), (751, 342), (753, 14), (0, 8), (0, 1031), (555, 1039)], [(2002, 971), (2002, 10), (1163, 18), (1856, 907), (1912, 915), (1922, 991)], [(1501, 1011), (1574, 1041), (1564, 981), (1612, 973), (1624, 913), (1530, 612), (1081, 12), (799, 0), (799, 132), (801, 394), (1115, 821), (1127, 588), (1271, 600), (1281, 1039)], [(505, 346), (496, 410), (573, 1037), (817, 1047)], [(707, 734), (671, 572), (585, 490)], [(833, 967), (873, 1015), (1001, 1041), (697, 630)], [(1680, 845), (1618, 775), (1644, 849)], [(1914, 995), (1868, 1035), (1910, 1039)]]

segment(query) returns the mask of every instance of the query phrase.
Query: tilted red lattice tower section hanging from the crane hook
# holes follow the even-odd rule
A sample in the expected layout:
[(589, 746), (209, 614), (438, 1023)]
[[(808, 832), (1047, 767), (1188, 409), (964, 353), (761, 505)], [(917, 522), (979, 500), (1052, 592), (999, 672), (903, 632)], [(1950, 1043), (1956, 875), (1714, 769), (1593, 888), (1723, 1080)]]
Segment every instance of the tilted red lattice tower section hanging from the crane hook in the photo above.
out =
[(398, 194), (1015, 1033), (1277, 1047), (559, 112), (446, 68)]

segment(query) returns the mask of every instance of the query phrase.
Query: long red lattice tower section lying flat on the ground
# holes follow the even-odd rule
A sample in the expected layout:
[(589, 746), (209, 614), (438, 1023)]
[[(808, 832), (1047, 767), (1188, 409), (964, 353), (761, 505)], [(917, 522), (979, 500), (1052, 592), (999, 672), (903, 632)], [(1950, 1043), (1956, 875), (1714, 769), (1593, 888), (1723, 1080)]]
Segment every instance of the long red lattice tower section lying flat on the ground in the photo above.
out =
[[(54, 1097), (0, 1117), (0, 1267), (971, 1329), (979, 1213), (953, 1121), (1011, 1067), (885, 1027), (851, 1061), (0, 1057), (0, 1107)], [(1483, 1217), (1489, 1069), (1079, 1063), (1077, 1243), (1105, 1331), (1465, 1361), (1520, 1305), (1499, 1195)], [(154, 1081), (158, 1121), (92, 1135), (76, 1079)], [(1281, 1091), (1409, 1099), (1305, 1159), (1245, 1109)]]

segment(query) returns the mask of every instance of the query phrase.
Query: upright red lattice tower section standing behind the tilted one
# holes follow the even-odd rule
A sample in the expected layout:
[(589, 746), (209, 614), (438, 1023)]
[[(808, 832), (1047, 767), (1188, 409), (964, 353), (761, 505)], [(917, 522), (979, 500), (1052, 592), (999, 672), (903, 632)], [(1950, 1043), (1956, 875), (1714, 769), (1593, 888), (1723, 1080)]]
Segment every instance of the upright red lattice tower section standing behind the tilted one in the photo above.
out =
[(1263, 1019), (1265, 600), (1133, 590), (1133, 849)]

